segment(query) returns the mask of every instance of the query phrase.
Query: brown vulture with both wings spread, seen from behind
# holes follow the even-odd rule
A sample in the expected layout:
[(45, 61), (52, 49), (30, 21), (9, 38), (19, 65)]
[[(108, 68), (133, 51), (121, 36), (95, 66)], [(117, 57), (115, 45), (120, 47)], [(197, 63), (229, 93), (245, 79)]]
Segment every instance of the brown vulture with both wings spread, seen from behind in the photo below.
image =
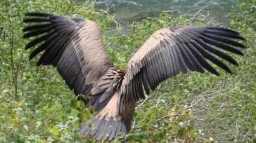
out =
[(231, 73), (223, 60), (238, 63), (224, 51), (243, 55), (238, 48), (245, 48), (238, 42), (245, 39), (224, 27), (162, 28), (136, 51), (127, 69), (117, 70), (95, 22), (51, 13), (26, 13), (24, 22), (30, 25), (23, 29), (23, 37), (35, 37), (25, 46), (36, 47), (30, 60), (41, 53), (37, 66), (56, 67), (79, 100), (94, 109), (96, 114), (78, 132), (95, 140), (125, 137), (136, 102), (162, 81), (188, 71), (207, 70), (219, 76), (212, 64)]

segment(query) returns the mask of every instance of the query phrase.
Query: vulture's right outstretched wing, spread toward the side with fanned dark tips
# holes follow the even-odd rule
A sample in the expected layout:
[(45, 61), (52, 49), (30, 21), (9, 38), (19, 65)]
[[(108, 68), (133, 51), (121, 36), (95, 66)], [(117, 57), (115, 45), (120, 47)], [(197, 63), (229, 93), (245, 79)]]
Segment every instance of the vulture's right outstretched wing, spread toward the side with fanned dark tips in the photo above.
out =
[(150, 88), (153, 90), (160, 82), (180, 72), (187, 73), (188, 69), (202, 73), (207, 69), (219, 76), (207, 60), (231, 73), (229, 67), (213, 55), (238, 66), (236, 60), (217, 50), (222, 48), (243, 55), (233, 46), (244, 46), (232, 39), (245, 40), (237, 32), (220, 27), (172, 27), (158, 30), (129, 60), (121, 86), (123, 101), (136, 102), (144, 98), (143, 90), (149, 93)]

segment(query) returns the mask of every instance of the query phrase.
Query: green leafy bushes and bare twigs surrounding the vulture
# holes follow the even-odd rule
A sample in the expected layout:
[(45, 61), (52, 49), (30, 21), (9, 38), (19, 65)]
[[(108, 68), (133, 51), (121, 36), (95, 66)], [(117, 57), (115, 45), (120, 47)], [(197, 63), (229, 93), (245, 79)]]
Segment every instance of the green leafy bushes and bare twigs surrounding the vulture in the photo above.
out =
[[(108, 11), (96, 11), (91, 1), (1, 1), (0, 7), (0, 142), (92, 142), (77, 129), (93, 114), (84, 109), (53, 67), (36, 67), (28, 61), (22, 39), (23, 14), (46, 11), (94, 20), (101, 26), (106, 48), (117, 68), (157, 29), (189, 22), (186, 15), (133, 22), (115, 29)], [(241, 1), (229, 13), (228, 25), (246, 37), (245, 57), (232, 55), (240, 67), (221, 76), (180, 74), (162, 83), (138, 103), (129, 142), (255, 142), (256, 141), (256, 2)], [(207, 23), (211, 25), (211, 23)], [(127, 32), (128, 31), (128, 32)], [(115, 141), (117, 142), (117, 141)]]

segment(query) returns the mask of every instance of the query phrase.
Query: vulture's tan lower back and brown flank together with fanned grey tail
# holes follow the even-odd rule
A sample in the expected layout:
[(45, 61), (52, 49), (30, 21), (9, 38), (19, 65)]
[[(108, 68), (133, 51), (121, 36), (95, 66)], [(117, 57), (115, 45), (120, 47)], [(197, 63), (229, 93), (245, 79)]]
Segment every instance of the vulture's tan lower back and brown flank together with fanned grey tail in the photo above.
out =
[(125, 139), (132, 125), (135, 103), (127, 104), (121, 114), (118, 105), (119, 97), (119, 92), (116, 91), (110, 100), (103, 101), (107, 102), (105, 107), (89, 119), (91, 121), (89, 125), (86, 124), (88, 121), (84, 123), (79, 134), (96, 140)]

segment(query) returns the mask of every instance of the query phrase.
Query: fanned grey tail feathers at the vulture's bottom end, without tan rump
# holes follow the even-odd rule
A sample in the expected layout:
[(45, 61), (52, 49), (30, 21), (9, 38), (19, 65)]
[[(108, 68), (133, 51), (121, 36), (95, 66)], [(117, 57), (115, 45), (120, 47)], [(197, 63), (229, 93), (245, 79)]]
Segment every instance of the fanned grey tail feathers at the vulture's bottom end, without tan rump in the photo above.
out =
[(79, 130), (79, 134), (83, 137), (89, 137), (91, 139), (105, 139), (112, 140), (114, 137), (125, 137), (127, 135), (127, 129), (124, 124), (123, 118), (118, 120), (117, 118), (96, 118), (92, 117), (91, 123), (84, 123)]

